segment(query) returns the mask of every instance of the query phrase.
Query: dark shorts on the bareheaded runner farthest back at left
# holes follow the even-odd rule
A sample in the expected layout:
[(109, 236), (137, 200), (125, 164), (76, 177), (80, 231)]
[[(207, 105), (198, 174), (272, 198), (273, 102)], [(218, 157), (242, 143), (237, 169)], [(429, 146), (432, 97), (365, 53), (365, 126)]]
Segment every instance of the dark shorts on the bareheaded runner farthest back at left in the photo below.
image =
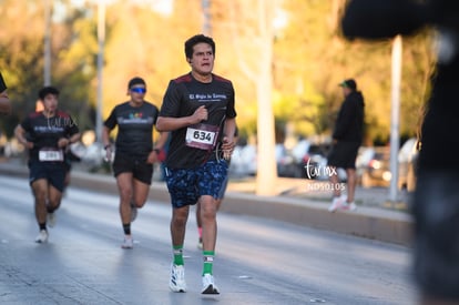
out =
[(29, 161), (30, 184), (37, 180), (45, 179), (52, 186), (62, 193), (64, 189), (65, 173), (67, 169), (64, 162), (40, 162), (38, 160)]

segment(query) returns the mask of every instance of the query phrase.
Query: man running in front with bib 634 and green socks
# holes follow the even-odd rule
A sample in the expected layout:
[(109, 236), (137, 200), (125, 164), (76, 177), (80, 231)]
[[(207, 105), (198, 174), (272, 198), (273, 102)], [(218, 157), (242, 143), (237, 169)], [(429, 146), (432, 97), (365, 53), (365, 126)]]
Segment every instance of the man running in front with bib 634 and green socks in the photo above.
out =
[[(197, 201), (203, 221), (203, 294), (218, 294), (212, 275), (216, 242), (216, 197), (226, 177), (234, 149), (236, 111), (231, 81), (212, 73), (215, 42), (194, 35), (185, 42), (185, 55), (192, 71), (172, 80), (165, 92), (157, 129), (170, 131), (166, 157), (166, 184), (171, 194), (174, 262), (170, 288), (185, 292), (183, 243), (190, 205)], [(223, 128), (224, 126), (224, 128)], [(217, 143), (221, 142), (221, 154)]]

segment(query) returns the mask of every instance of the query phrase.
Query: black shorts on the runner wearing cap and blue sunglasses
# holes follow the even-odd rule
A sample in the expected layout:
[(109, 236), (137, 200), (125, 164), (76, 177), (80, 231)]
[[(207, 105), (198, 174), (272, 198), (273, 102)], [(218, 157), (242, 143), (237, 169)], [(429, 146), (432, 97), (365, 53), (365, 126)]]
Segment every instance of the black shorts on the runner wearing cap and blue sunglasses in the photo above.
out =
[(115, 154), (113, 161), (113, 174), (132, 173), (133, 177), (151, 185), (153, 176), (153, 164), (146, 163), (147, 156), (132, 156)]

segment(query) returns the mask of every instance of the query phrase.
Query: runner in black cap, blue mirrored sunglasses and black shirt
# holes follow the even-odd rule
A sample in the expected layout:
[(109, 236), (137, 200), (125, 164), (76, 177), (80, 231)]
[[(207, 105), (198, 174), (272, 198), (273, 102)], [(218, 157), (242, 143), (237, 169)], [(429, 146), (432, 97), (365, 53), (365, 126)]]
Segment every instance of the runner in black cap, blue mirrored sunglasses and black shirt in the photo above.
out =
[(133, 78), (128, 85), (131, 100), (116, 105), (104, 122), (102, 141), (106, 159), (112, 157), (110, 132), (118, 125), (113, 172), (120, 193), (120, 216), (124, 231), (123, 248), (133, 247), (131, 222), (136, 217), (149, 195), (152, 183), (153, 163), (161, 161), (160, 152), (167, 140), (167, 133), (161, 133), (153, 149), (153, 125), (159, 110), (144, 100), (145, 81)]

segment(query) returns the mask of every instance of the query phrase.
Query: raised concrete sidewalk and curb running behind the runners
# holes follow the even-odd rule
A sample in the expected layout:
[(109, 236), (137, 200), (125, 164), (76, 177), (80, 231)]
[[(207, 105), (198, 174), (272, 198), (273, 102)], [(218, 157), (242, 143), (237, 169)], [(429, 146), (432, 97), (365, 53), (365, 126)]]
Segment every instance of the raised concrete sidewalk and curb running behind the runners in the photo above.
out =
[[(0, 174), (27, 177), (28, 169), (23, 164), (1, 162)], [(378, 200), (378, 195), (369, 193), (366, 195), (373, 200), (371, 204), (360, 199), (360, 202), (357, 201), (359, 204), (357, 211), (329, 213), (327, 192), (315, 192), (314, 196), (306, 192), (298, 192), (307, 189), (307, 183), (304, 180), (279, 179), (276, 184), (279, 195), (276, 196), (255, 195), (253, 180), (230, 183), (221, 211), (410, 245), (412, 226), (410, 215), (404, 211), (384, 209), (384, 197), (379, 196)], [(71, 187), (118, 193), (113, 176), (76, 170), (72, 171)], [(150, 200), (169, 204), (169, 192), (163, 182), (153, 182)]]

